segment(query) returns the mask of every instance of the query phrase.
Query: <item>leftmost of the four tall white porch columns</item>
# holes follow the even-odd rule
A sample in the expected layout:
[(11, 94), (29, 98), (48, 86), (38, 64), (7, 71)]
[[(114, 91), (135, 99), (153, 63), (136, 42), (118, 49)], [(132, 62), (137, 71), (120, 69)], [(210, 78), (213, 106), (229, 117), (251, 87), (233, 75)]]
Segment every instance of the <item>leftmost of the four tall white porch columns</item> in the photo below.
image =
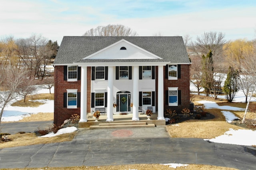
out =
[(87, 67), (81, 67), (81, 106), (79, 122), (87, 122)]

